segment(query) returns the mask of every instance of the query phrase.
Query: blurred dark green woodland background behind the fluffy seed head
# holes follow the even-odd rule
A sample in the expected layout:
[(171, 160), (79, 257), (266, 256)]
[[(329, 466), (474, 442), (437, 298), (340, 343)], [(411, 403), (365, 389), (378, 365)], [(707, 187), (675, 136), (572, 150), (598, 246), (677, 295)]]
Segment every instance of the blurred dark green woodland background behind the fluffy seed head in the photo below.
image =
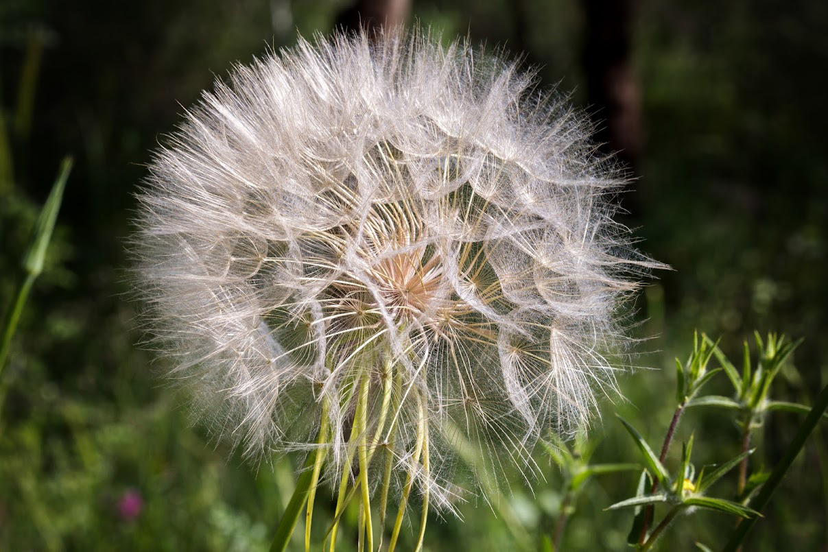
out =
[[(252, 467), (190, 424), (186, 397), (137, 346), (125, 240), (149, 152), (200, 91), (234, 63), (291, 45), (297, 32), (329, 33), (352, 3), (0, 6), (2, 311), (60, 159), (75, 156), (46, 270), (2, 374), (0, 550), (267, 550), (297, 460)], [(675, 406), (672, 358), (686, 358), (696, 328), (721, 337), (734, 358), (753, 329), (805, 338), (798, 370), (773, 394), (816, 396), (828, 382), (828, 3), (413, 0), (406, 8), (409, 22), (446, 39), (525, 53), (522, 66), (540, 67), (542, 86), (574, 90), (572, 102), (604, 129), (599, 140), (620, 144), (639, 177), (619, 198), (623, 222), (675, 270), (638, 298), (633, 334), (648, 339), (631, 362), (641, 369), (621, 378), (623, 398), (604, 401), (595, 458), (638, 460), (616, 411), (653, 447), (661, 442)], [(619, 33), (620, 43), (607, 40)], [(602, 87), (615, 93), (605, 105)], [(612, 98), (623, 100), (620, 111)], [(724, 378), (715, 387), (728, 394)], [(753, 465), (772, 467), (800, 421), (768, 419)], [(679, 437), (691, 430), (699, 463), (738, 453), (739, 431), (720, 412), (691, 412)], [(823, 424), (745, 550), (828, 550), (826, 435)], [(533, 491), (508, 474), (513, 490), (499, 500), (511, 521), (483, 500), (461, 508), (463, 521), (435, 512), (426, 548), (537, 550), (561, 504), (557, 468), (537, 458), (545, 480)], [(603, 510), (632, 496), (636, 479), (590, 482), (562, 549), (623, 548), (630, 513)], [(720, 495), (728, 485), (732, 478)], [(320, 520), (326, 511), (330, 519), (327, 499), (320, 492)], [(340, 534), (355, 534), (349, 516)], [(697, 514), (672, 528), (662, 550), (720, 546), (732, 524)], [(325, 523), (315, 525), (321, 540)], [(406, 539), (410, 546), (412, 530)]]

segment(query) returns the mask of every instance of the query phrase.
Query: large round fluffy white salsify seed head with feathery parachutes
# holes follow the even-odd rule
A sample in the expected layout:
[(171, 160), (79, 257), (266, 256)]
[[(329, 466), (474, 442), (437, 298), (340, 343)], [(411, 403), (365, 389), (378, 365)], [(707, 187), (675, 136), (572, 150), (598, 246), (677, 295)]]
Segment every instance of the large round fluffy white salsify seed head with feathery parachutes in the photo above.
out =
[(219, 434), (323, 447), (332, 478), (367, 444), (450, 507), (458, 449), (527, 467), (590, 419), (655, 263), (612, 220), (623, 180), (585, 120), (535, 87), (464, 42), (337, 35), (186, 113), (139, 194), (136, 281)]

